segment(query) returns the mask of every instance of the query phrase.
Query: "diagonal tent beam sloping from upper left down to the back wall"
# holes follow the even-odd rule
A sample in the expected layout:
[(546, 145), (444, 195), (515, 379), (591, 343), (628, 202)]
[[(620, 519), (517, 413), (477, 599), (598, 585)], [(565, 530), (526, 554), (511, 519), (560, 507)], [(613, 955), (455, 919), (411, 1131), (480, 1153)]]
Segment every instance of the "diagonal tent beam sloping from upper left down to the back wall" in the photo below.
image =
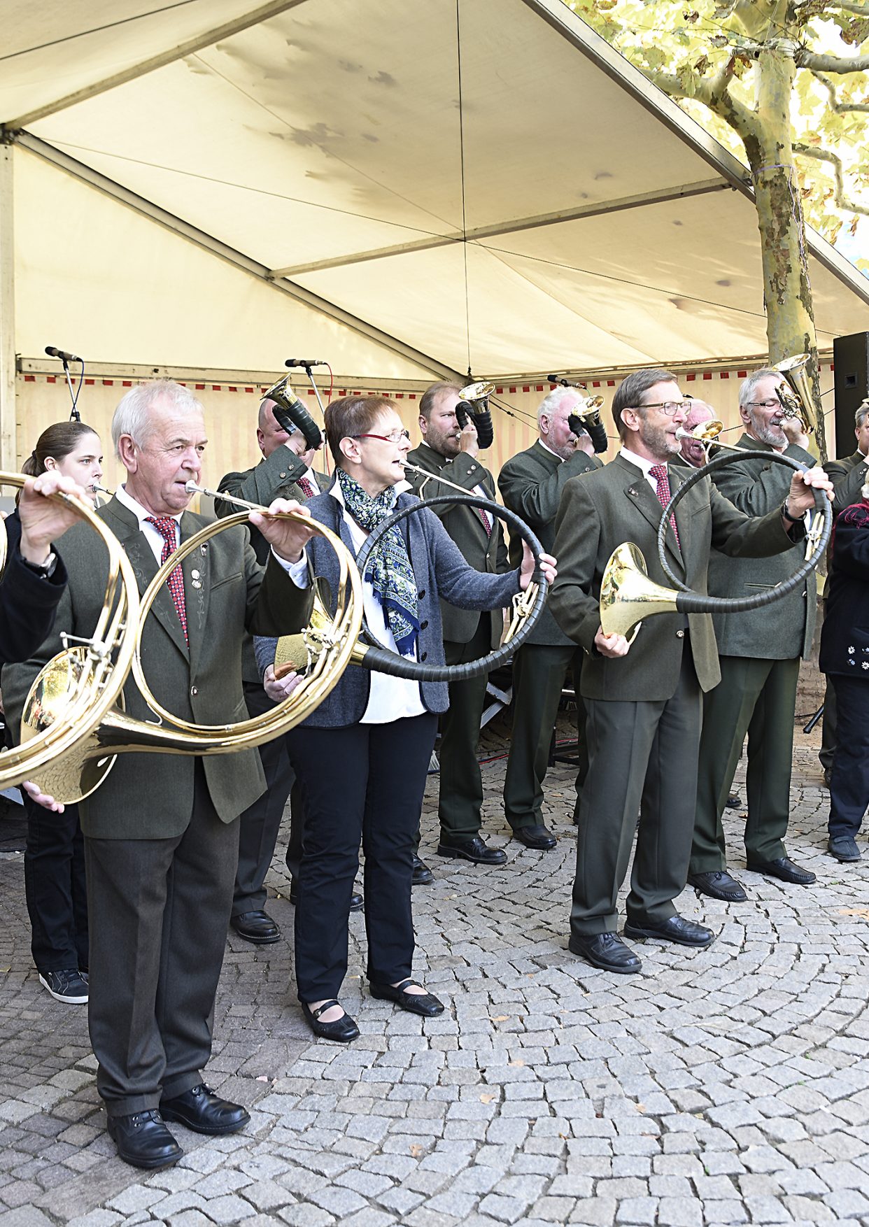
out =
[(353, 333), (358, 333), (361, 336), (365, 336), (366, 340), (382, 345), (384, 348), (399, 355), (399, 357), (406, 358), (416, 366), (431, 371), (441, 379), (458, 379), (464, 382), (464, 375), (460, 374), (460, 372), (444, 366), (442, 362), (438, 362), (427, 353), (422, 353), (420, 350), (415, 350), (411, 345), (407, 345), (399, 337), (392, 336), (389, 333), (383, 333), (373, 324), (368, 324), (357, 315), (352, 315), (350, 312), (344, 310), (344, 308), (329, 302), (326, 298), (320, 298), (319, 294), (312, 293), (309, 290), (296, 285), (287, 277), (272, 277), (269, 269), (264, 264), (259, 264), (250, 256), (244, 255), (243, 252), (238, 252), (236, 248), (228, 247), (226, 243), (221, 243), (221, 240), (215, 238), (212, 234), (207, 234), (205, 231), (199, 229), (190, 222), (184, 221), (184, 218), (177, 217), (166, 209), (161, 209), (160, 205), (155, 205), (144, 196), (136, 195), (135, 191), (130, 191), (128, 188), (124, 188), (122, 184), (107, 178), (107, 175), (92, 169), (83, 162), (77, 162), (68, 153), (61, 152), (47, 141), (41, 140), (38, 136), (33, 136), (31, 133), (17, 133), (15, 135), (15, 144), (20, 145), (21, 148), (27, 150), (29, 153), (34, 153), (50, 166), (54, 166), (60, 171), (65, 171), (66, 174), (70, 174), (74, 179), (79, 179), (81, 183), (85, 183), (91, 188), (96, 188), (97, 191), (102, 191), (104, 195), (110, 196), (119, 204), (126, 205), (128, 209), (140, 213), (142, 217), (147, 217), (158, 226), (163, 226), (173, 234), (178, 234), (180, 238), (185, 238), (196, 247), (210, 252), (211, 255), (216, 255), (221, 260), (226, 260), (227, 264), (233, 265), (242, 272), (247, 272), (250, 276), (257, 277), (268, 286), (272, 286), (281, 293), (288, 294), (288, 297), (303, 303), (306, 307), (311, 307), (322, 315), (326, 315), (329, 319), (336, 320), (339, 324), (351, 329)]

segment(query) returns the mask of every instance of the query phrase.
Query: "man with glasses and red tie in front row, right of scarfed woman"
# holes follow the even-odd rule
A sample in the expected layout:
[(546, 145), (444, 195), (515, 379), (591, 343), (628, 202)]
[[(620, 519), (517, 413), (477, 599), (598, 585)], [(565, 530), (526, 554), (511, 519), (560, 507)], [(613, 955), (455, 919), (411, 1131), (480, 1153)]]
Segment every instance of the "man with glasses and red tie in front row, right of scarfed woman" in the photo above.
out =
[[(589, 771), (579, 806), (570, 948), (611, 972), (641, 968), (616, 936), (616, 897), (637, 812), (626, 936), (695, 948), (714, 936), (680, 917), (673, 903), (685, 887), (691, 850), (702, 696), (720, 676), (712, 617), (659, 614), (643, 622), (631, 645), (625, 636), (604, 634), (599, 610), (604, 568), (624, 541), (639, 547), (652, 582), (673, 587), (658, 561), (657, 535), (662, 508), (685, 480), (685, 470), (671, 461), (689, 409), (669, 371), (628, 375), (612, 400), (621, 450), (597, 472), (567, 482), (556, 520), (560, 561), (550, 607), (587, 653), (582, 694)], [(754, 519), (708, 477), (697, 482), (666, 529), (674, 574), (705, 591), (712, 545), (732, 556), (788, 551), (803, 534), (799, 517), (814, 506), (810, 486), (831, 488), (822, 470), (794, 474), (783, 503)]]

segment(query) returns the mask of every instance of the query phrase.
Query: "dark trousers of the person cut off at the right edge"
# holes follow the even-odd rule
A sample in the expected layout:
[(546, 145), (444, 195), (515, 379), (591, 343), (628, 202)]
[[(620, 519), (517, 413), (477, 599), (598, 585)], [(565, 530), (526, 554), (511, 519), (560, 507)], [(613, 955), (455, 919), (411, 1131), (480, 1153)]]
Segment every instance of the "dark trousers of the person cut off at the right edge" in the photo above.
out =
[(830, 777), (830, 837), (855, 836), (869, 806), (869, 685), (830, 674), (836, 688), (837, 740)]

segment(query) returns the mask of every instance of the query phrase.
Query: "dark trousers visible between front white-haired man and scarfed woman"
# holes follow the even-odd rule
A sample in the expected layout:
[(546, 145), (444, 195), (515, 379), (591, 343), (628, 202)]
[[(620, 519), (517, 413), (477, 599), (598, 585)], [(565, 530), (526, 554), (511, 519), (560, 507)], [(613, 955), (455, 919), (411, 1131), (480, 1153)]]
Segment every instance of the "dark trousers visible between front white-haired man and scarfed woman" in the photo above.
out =
[[(275, 707), (261, 682), (244, 682), (244, 702), (252, 717)], [(286, 737), (275, 737), (259, 747), (265, 773), (265, 793), (242, 814), (238, 822), (238, 869), (232, 897), (232, 914), (261, 912), (265, 907), (265, 875), (269, 872), (281, 828), (284, 807), (293, 782)]]

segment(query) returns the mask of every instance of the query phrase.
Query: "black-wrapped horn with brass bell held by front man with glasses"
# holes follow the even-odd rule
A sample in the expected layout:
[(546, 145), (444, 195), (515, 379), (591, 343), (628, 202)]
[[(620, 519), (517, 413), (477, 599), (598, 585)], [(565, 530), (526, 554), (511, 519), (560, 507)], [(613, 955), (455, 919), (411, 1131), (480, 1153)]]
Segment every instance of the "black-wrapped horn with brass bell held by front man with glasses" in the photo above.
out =
[[(735, 455), (735, 452), (739, 455)], [(664, 508), (658, 528), (658, 561), (675, 588), (664, 588), (648, 579), (642, 552), (632, 541), (624, 542), (612, 551), (600, 583), (600, 627), (604, 634), (627, 636), (633, 631), (631, 636), (631, 642), (633, 642), (642, 620), (653, 614), (671, 614), (673, 611), (681, 614), (741, 614), (756, 610), (787, 596), (817, 566), (827, 547), (832, 529), (832, 504), (822, 490), (814, 491), (816, 515), (809, 534), (809, 545), (814, 544), (814, 548), (810, 550), (805, 561), (789, 579), (783, 580), (770, 591), (759, 593), (755, 596), (707, 596), (703, 593), (692, 591), (674, 575), (664, 552), (670, 515), (692, 486), (696, 486), (716, 469), (722, 469), (736, 459), (783, 464), (795, 472), (804, 472), (808, 467), (799, 460), (781, 455), (778, 452), (749, 452), (745, 448), (736, 448), (734, 452), (728, 450), (725, 454), (716, 456), (702, 469), (692, 472)]]

